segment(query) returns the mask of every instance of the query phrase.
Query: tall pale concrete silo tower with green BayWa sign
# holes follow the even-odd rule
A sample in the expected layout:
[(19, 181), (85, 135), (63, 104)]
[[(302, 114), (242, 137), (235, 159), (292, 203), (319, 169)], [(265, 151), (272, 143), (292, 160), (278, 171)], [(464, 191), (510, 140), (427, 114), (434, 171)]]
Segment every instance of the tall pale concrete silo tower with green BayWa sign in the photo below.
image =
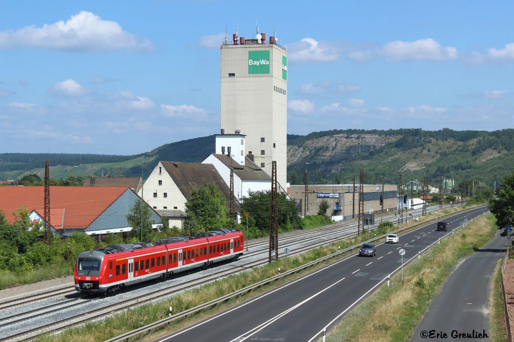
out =
[[(277, 161), (277, 179), (286, 188), (287, 174), (287, 51), (273, 36), (256, 39), (233, 35), (221, 46), (222, 132), (246, 135), (245, 151), (253, 162), (271, 175)], [(216, 148), (216, 153), (221, 150)]]

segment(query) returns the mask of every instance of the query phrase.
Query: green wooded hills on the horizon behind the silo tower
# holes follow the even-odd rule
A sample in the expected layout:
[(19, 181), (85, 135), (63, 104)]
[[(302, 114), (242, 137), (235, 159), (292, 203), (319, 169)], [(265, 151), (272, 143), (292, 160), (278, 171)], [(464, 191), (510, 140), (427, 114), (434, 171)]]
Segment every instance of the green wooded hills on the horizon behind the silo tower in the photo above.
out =
[[(68, 175), (140, 176), (157, 161), (201, 162), (214, 151), (214, 136), (183, 140), (132, 156), (79, 154), (0, 154), (0, 180), (19, 179), (36, 173), (42, 176), (44, 161), (50, 160), (52, 178)], [(476, 179), (489, 186), (514, 169), (514, 129), (455, 131), (441, 129), (329, 130), (306, 136), (288, 135), (288, 180), (303, 184), (305, 169), (309, 183), (352, 183), (364, 170), (365, 183), (396, 184), (398, 174), (408, 182), (423, 180), (437, 185), (440, 176), (456, 182)]]

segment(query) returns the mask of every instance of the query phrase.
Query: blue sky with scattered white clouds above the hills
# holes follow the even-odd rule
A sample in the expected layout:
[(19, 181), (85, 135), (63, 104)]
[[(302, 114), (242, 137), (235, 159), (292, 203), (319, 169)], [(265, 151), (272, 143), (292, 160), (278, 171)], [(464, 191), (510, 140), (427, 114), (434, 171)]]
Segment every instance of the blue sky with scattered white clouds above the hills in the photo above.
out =
[(219, 130), (219, 45), (276, 31), (288, 132), (514, 127), (510, 1), (0, 1), (0, 153)]

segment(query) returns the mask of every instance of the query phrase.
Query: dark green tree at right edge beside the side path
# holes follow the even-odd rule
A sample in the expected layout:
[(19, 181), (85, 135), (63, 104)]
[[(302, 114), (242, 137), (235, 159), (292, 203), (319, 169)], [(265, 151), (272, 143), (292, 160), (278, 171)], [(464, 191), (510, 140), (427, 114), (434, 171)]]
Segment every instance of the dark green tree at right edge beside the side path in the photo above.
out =
[(514, 223), (514, 172), (502, 179), (498, 198), (489, 202), (489, 210), (496, 217), (499, 227)]

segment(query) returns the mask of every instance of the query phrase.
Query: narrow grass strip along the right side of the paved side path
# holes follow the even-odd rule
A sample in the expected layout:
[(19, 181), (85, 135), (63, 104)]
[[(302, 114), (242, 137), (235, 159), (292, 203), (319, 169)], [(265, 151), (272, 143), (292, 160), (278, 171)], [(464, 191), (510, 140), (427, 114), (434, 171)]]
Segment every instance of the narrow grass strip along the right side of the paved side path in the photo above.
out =
[(505, 324), (505, 311), (502, 300), (502, 263), (498, 261), (494, 274), (489, 283), (489, 337), (493, 342), (507, 341), (507, 327)]

